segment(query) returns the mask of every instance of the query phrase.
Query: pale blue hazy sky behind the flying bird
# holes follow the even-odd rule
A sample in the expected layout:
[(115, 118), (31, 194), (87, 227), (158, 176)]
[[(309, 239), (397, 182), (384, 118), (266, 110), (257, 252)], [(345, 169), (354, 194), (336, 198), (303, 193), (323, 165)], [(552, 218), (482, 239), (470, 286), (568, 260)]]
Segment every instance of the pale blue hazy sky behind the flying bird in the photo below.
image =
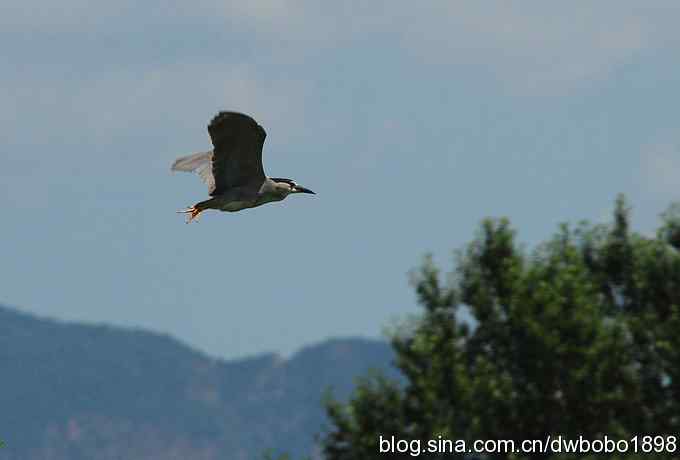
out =
[[(0, 303), (211, 355), (381, 337), (485, 217), (529, 247), (680, 200), (680, 3), (101, 2), (0, 7)], [(317, 192), (239, 213), (181, 155), (220, 110)]]

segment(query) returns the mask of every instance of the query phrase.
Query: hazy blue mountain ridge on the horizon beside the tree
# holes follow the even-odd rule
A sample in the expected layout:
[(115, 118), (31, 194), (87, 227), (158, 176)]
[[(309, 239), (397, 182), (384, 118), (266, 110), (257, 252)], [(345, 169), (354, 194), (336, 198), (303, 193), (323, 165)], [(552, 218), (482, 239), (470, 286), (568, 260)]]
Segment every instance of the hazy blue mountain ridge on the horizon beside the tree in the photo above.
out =
[(161, 334), (0, 307), (0, 460), (251, 460), (309, 454), (320, 401), (391, 370), (380, 341), (336, 339), (284, 360), (209, 357)]

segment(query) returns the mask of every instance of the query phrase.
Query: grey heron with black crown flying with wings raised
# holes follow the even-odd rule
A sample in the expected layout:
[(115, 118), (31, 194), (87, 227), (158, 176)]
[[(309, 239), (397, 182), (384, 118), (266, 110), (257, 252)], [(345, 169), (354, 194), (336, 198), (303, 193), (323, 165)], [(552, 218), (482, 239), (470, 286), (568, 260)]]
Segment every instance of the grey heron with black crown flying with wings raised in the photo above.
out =
[(214, 149), (178, 158), (173, 171), (196, 171), (208, 184), (209, 200), (177, 211), (189, 215), (187, 223), (206, 209), (240, 211), (293, 193), (311, 193), (291, 179), (266, 177), (262, 167), (262, 145), (267, 133), (248, 115), (220, 112), (208, 125)]

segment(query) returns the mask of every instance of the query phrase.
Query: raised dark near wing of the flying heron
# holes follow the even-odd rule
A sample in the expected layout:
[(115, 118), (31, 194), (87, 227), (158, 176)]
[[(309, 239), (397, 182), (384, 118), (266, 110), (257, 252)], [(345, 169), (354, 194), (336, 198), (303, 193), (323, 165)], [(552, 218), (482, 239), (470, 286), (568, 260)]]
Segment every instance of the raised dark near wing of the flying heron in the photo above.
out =
[(248, 115), (220, 112), (208, 125), (214, 152), (211, 195), (248, 184), (262, 183), (262, 145), (267, 137), (262, 126)]

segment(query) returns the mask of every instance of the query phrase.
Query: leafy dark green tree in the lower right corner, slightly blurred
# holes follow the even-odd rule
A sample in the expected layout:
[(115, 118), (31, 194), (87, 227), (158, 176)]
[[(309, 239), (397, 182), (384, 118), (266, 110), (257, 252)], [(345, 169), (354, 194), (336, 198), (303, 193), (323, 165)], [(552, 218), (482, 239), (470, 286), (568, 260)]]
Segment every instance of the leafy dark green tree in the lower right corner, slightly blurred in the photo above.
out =
[(414, 275), (424, 312), (391, 334), (404, 381), (367, 376), (347, 404), (328, 402), (326, 458), (386, 458), (380, 436), (424, 447), (678, 435), (679, 248), (679, 206), (646, 237), (630, 230), (623, 197), (611, 224), (562, 225), (531, 252), (508, 220), (484, 221), (448, 277), (431, 258)]

